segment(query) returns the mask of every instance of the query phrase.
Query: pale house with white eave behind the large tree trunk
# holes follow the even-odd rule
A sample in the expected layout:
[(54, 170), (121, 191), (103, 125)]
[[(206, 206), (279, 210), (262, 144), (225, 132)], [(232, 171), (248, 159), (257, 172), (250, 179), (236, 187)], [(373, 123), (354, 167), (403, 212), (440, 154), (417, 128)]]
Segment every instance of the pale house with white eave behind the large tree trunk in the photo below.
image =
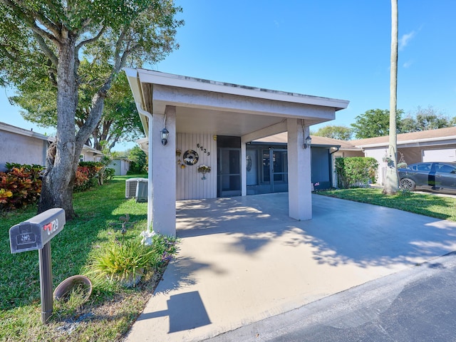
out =
[[(33, 130), (24, 130), (13, 125), (0, 123), (0, 171), (6, 170), (6, 162), (18, 164), (46, 165), (46, 150), (56, 139)], [(103, 152), (85, 145), (81, 152), (81, 161), (96, 162), (103, 157)]]

